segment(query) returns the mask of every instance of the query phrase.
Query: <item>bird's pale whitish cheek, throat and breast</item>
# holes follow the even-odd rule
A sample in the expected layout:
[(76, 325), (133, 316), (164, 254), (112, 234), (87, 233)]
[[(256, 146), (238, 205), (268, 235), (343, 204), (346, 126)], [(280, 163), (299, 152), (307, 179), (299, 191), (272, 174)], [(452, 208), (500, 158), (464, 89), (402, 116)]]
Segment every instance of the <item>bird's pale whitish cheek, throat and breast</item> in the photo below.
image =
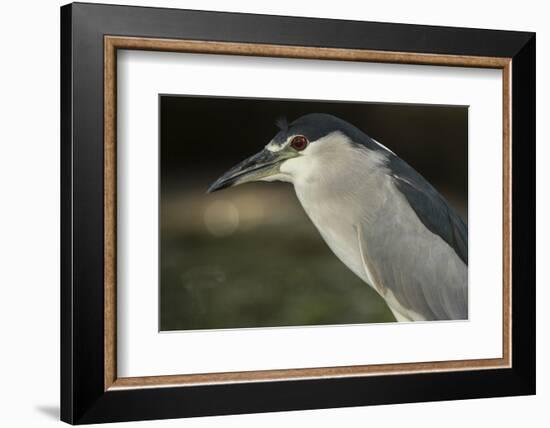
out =
[(357, 247), (356, 225), (374, 220), (385, 203), (391, 185), (386, 155), (357, 147), (340, 133), (325, 138), (311, 144), (322, 143), (316, 151), (285, 162), (281, 174), (294, 184), (304, 211), (330, 249), (371, 283)]

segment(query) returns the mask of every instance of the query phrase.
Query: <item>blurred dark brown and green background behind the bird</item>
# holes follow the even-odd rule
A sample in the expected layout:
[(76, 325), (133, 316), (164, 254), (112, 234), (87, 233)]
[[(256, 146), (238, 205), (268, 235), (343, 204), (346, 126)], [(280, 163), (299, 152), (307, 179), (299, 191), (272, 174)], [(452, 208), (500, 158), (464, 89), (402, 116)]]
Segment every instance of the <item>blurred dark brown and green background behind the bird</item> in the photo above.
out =
[(313, 112), (390, 148), (467, 222), (467, 107), (162, 95), (160, 330), (394, 321), (332, 254), (290, 184), (206, 194), (270, 141), (277, 118)]

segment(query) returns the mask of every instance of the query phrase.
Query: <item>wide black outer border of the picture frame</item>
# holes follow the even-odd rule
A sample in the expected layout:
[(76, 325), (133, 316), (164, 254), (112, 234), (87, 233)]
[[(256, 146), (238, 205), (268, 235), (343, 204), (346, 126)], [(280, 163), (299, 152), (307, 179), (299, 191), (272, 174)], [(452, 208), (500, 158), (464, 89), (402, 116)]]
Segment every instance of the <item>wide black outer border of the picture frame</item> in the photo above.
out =
[[(512, 59), (512, 367), (104, 388), (104, 36)], [(61, 8), (61, 419), (71, 424), (535, 393), (535, 34), (74, 3)]]

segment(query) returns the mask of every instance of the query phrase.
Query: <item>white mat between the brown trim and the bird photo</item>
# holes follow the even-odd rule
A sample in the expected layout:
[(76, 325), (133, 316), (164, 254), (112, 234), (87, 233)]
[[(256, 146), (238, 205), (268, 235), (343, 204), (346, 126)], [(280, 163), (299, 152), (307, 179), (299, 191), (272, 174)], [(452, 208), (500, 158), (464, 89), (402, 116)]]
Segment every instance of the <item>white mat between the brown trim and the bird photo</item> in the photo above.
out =
[[(143, 51), (117, 67), (119, 376), (502, 356), (500, 70)], [(159, 334), (159, 93), (469, 105), (469, 320)]]

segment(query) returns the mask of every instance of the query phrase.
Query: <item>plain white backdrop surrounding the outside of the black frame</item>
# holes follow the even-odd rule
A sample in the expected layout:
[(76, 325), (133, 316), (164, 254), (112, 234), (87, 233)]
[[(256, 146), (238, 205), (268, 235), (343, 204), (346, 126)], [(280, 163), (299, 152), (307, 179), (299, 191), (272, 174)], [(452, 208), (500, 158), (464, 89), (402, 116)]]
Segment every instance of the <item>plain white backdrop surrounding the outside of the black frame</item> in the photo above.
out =
[[(110, 3), (109, 1), (104, 1)], [(461, 402), (226, 416), (139, 423), (141, 426), (279, 427), (546, 426), (550, 404), (550, 299), (545, 241), (550, 239), (546, 184), (550, 169), (547, 99), (550, 29), (544, 2), (463, 0), (321, 3), (127, 1), (187, 7), (415, 24), (537, 31), (538, 395)], [(59, 424), (59, 1), (4, 2), (0, 13), (0, 417), (3, 426)], [(546, 197), (543, 198), (543, 194)], [(545, 286), (546, 285), (546, 286)], [(138, 423), (125, 426), (138, 426)]]

